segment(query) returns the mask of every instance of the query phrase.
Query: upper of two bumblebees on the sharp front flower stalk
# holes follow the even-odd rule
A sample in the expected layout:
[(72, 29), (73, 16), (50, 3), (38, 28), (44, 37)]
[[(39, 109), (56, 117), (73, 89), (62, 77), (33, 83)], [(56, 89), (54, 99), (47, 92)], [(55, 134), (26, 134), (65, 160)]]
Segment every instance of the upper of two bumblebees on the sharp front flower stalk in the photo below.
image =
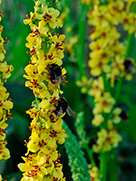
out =
[(66, 83), (65, 76), (62, 75), (62, 67), (58, 66), (55, 63), (52, 63), (48, 65), (48, 71), (49, 71), (48, 78), (50, 79), (52, 84)]

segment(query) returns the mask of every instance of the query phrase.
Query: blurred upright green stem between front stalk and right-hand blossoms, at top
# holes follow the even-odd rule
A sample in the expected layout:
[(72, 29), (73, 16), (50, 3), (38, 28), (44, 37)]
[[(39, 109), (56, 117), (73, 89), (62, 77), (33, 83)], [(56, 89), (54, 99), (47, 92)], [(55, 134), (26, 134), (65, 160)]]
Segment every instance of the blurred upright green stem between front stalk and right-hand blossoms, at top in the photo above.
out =
[(77, 49), (77, 62), (80, 69), (81, 76), (85, 76), (85, 66), (84, 66), (84, 44), (85, 44), (85, 33), (86, 33), (86, 13), (87, 6), (82, 4), (80, 1), (80, 12), (78, 17), (79, 27), (79, 46)]

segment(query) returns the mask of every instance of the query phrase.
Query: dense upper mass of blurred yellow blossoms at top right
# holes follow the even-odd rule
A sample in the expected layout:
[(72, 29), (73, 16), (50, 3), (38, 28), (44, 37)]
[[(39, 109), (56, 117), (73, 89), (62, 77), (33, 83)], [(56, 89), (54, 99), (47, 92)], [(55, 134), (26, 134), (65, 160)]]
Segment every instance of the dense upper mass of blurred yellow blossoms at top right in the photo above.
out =
[[(89, 67), (93, 76), (99, 76), (105, 72), (107, 78), (111, 80), (111, 86), (114, 86), (114, 81), (127, 74), (132, 74), (133, 70), (127, 71), (125, 61), (125, 45), (119, 41), (120, 33), (117, 31), (117, 26), (124, 23), (125, 13), (129, 20), (132, 20), (132, 25), (124, 24), (129, 33), (135, 32), (135, 14), (124, 10), (125, 2), (121, 0), (110, 0), (107, 6), (97, 4), (94, 9), (88, 13), (88, 23), (94, 26), (90, 38), (90, 60)], [(132, 16), (134, 18), (129, 18)], [(127, 20), (126, 20), (127, 21)], [(133, 30), (131, 28), (133, 27)], [(97, 60), (97, 61), (96, 61)], [(133, 66), (133, 62), (129, 60)], [(127, 66), (127, 67), (126, 67)]]

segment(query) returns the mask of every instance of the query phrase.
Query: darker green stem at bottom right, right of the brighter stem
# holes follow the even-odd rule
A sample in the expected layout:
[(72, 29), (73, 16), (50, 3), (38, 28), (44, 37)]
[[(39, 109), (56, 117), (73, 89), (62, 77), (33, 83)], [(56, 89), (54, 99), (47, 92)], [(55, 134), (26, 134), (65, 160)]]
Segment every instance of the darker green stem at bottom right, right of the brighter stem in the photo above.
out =
[(116, 149), (113, 149), (109, 159), (109, 181), (117, 181)]

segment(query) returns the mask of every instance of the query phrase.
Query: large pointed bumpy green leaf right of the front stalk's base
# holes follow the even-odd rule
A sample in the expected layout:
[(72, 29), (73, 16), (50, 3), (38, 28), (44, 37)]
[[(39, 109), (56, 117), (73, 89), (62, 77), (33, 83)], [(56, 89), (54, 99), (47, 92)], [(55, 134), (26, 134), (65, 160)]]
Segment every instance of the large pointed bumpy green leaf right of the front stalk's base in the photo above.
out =
[(65, 141), (65, 148), (69, 158), (69, 166), (71, 167), (73, 181), (89, 181), (90, 175), (84, 153), (80, 149), (76, 137), (64, 122), (63, 127), (68, 135)]

